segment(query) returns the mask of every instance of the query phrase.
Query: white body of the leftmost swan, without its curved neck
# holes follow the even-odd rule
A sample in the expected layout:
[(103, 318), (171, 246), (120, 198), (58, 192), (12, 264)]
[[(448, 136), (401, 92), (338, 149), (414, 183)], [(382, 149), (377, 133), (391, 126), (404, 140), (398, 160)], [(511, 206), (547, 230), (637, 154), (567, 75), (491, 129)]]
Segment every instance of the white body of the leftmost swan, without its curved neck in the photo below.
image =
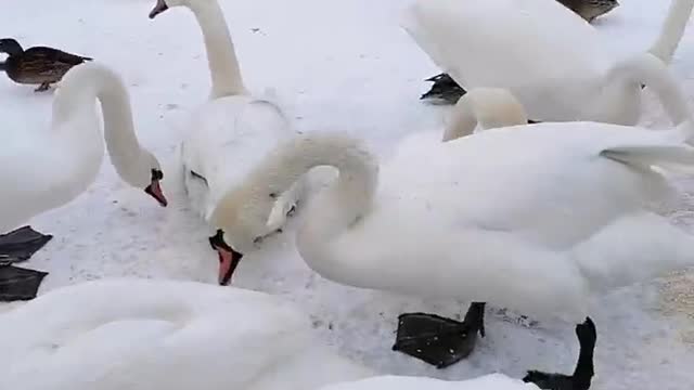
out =
[[(101, 132), (76, 127), (99, 125), (93, 115), (83, 115), (50, 133), (21, 128), (5, 134), (0, 148), (0, 233), (73, 200), (94, 181), (104, 153)], [(66, 136), (74, 133), (85, 138)]]

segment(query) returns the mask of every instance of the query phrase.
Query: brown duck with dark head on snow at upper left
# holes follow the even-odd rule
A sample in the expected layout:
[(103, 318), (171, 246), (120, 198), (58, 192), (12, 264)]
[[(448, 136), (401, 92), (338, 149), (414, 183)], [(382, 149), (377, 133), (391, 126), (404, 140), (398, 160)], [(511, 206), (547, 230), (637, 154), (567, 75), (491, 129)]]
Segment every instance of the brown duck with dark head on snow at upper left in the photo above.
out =
[(47, 91), (73, 66), (92, 60), (47, 47), (24, 50), (12, 38), (0, 39), (0, 52), (9, 54), (0, 70), (4, 70), (14, 82), (39, 84), (36, 91)]

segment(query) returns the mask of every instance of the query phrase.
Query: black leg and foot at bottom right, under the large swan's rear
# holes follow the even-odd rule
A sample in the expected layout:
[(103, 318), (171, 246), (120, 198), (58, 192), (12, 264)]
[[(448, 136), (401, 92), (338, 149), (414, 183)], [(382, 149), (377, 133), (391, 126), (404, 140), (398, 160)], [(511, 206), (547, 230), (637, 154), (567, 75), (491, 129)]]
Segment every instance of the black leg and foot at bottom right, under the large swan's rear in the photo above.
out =
[(597, 333), (595, 324), (590, 317), (586, 318), (582, 324), (576, 325), (576, 336), (580, 349), (578, 352), (578, 362), (574, 375), (548, 374), (538, 370), (529, 370), (528, 375), (523, 378), (525, 382), (534, 382), (543, 390), (588, 390), (590, 389), (595, 370), (593, 367), (593, 351), (595, 350), (595, 340)]

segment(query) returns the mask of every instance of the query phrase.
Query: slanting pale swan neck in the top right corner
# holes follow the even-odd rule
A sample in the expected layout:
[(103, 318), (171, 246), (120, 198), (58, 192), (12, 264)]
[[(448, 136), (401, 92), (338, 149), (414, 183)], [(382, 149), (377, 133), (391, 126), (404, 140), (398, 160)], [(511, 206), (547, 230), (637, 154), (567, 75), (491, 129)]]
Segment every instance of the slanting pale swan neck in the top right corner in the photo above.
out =
[(694, 0), (671, 0), (668, 15), (663, 23), (660, 34), (650, 53), (666, 64), (672, 61), (672, 55), (682, 40), (686, 24), (694, 8)]

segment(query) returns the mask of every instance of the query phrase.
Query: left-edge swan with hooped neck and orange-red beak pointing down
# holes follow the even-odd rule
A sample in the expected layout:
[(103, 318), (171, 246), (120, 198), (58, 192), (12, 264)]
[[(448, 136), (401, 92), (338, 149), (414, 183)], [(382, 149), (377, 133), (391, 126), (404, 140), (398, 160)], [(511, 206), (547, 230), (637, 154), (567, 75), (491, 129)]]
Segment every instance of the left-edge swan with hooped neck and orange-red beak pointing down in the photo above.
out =
[[(101, 102), (103, 135), (95, 101)], [(138, 142), (123, 81), (107, 67), (88, 63), (63, 77), (53, 99), (50, 129), (5, 133), (0, 148), (0, 164), (5, 167), (0, 170), (0, 232), (85, 192), (99, 173), (104, 138), (120, 178), (166, 206), (159, 187), (159, 161)]]

